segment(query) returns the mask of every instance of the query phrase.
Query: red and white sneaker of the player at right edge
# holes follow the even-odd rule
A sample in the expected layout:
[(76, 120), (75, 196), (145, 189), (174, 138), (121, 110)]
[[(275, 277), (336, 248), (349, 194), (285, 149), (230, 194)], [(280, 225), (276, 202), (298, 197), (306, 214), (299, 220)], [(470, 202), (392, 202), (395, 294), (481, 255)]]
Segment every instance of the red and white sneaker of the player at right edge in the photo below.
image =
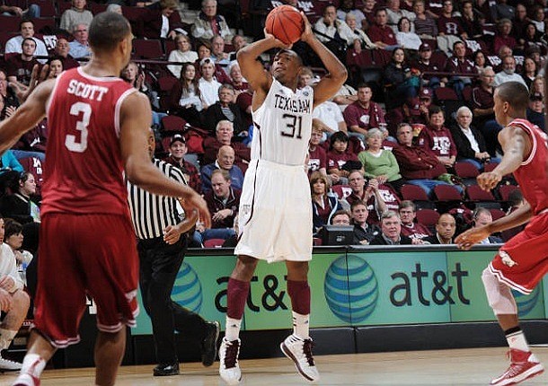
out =
[(513, 385), (544, 372), (543, 365), (530, 351), (510, 348), (508, 356), (510, 358), (508, 370), (492, 380), (491, 385)]

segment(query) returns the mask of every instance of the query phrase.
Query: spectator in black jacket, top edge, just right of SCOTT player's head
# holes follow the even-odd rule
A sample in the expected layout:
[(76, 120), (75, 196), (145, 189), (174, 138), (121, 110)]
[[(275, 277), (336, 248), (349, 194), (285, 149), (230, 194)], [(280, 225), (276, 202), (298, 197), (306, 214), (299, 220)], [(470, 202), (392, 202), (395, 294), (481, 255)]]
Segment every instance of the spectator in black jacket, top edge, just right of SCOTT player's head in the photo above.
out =
[(160, 0), (146, 6), (137, 21), (137, 36), (145, 39), (175, 39), (182, 29), (178, 0)]

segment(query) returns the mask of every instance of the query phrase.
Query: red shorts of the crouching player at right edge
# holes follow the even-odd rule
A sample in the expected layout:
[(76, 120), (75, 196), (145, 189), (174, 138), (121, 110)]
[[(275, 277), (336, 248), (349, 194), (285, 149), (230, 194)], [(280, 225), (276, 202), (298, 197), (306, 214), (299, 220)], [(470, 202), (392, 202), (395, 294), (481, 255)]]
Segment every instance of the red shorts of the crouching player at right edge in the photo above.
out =
[(535, 215), (526, 228), (508, 240), (489, 268), (499, 281), (531, 294), (548, 272), (548, 213)]

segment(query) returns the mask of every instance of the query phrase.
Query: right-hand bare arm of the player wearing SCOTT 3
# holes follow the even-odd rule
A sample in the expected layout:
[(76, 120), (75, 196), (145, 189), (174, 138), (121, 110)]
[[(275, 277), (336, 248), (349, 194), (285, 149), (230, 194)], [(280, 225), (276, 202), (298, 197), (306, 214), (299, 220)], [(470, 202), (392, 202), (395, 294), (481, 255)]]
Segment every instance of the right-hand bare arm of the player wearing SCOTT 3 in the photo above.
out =
[(122, 103), (120, 110), (120, 150), (129, 182), (151, 193), (184, 198), (195, 207), (206, 227), (211, 225), (206, 201), (193, 189), (167, 178), (150, 162), (147, 152), (148, 126), (152, 113), (145, 94), (134, 92)]

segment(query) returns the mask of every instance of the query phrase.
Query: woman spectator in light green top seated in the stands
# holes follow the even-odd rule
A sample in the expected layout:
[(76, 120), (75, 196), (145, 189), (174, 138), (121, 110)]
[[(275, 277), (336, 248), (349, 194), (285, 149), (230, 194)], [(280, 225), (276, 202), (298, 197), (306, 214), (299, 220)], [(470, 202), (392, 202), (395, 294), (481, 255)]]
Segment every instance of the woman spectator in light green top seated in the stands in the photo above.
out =
[(371, 128), (367, 132), (367, 150), (358, 154), (359, 161), (364, 166), (367, 178), (376, 179), (379, 185), (388, 183), (400, 191), (405, 180), (400, 174), (400, 166), (389, 150), (384, 150), (383, 133), (378, 128)]

